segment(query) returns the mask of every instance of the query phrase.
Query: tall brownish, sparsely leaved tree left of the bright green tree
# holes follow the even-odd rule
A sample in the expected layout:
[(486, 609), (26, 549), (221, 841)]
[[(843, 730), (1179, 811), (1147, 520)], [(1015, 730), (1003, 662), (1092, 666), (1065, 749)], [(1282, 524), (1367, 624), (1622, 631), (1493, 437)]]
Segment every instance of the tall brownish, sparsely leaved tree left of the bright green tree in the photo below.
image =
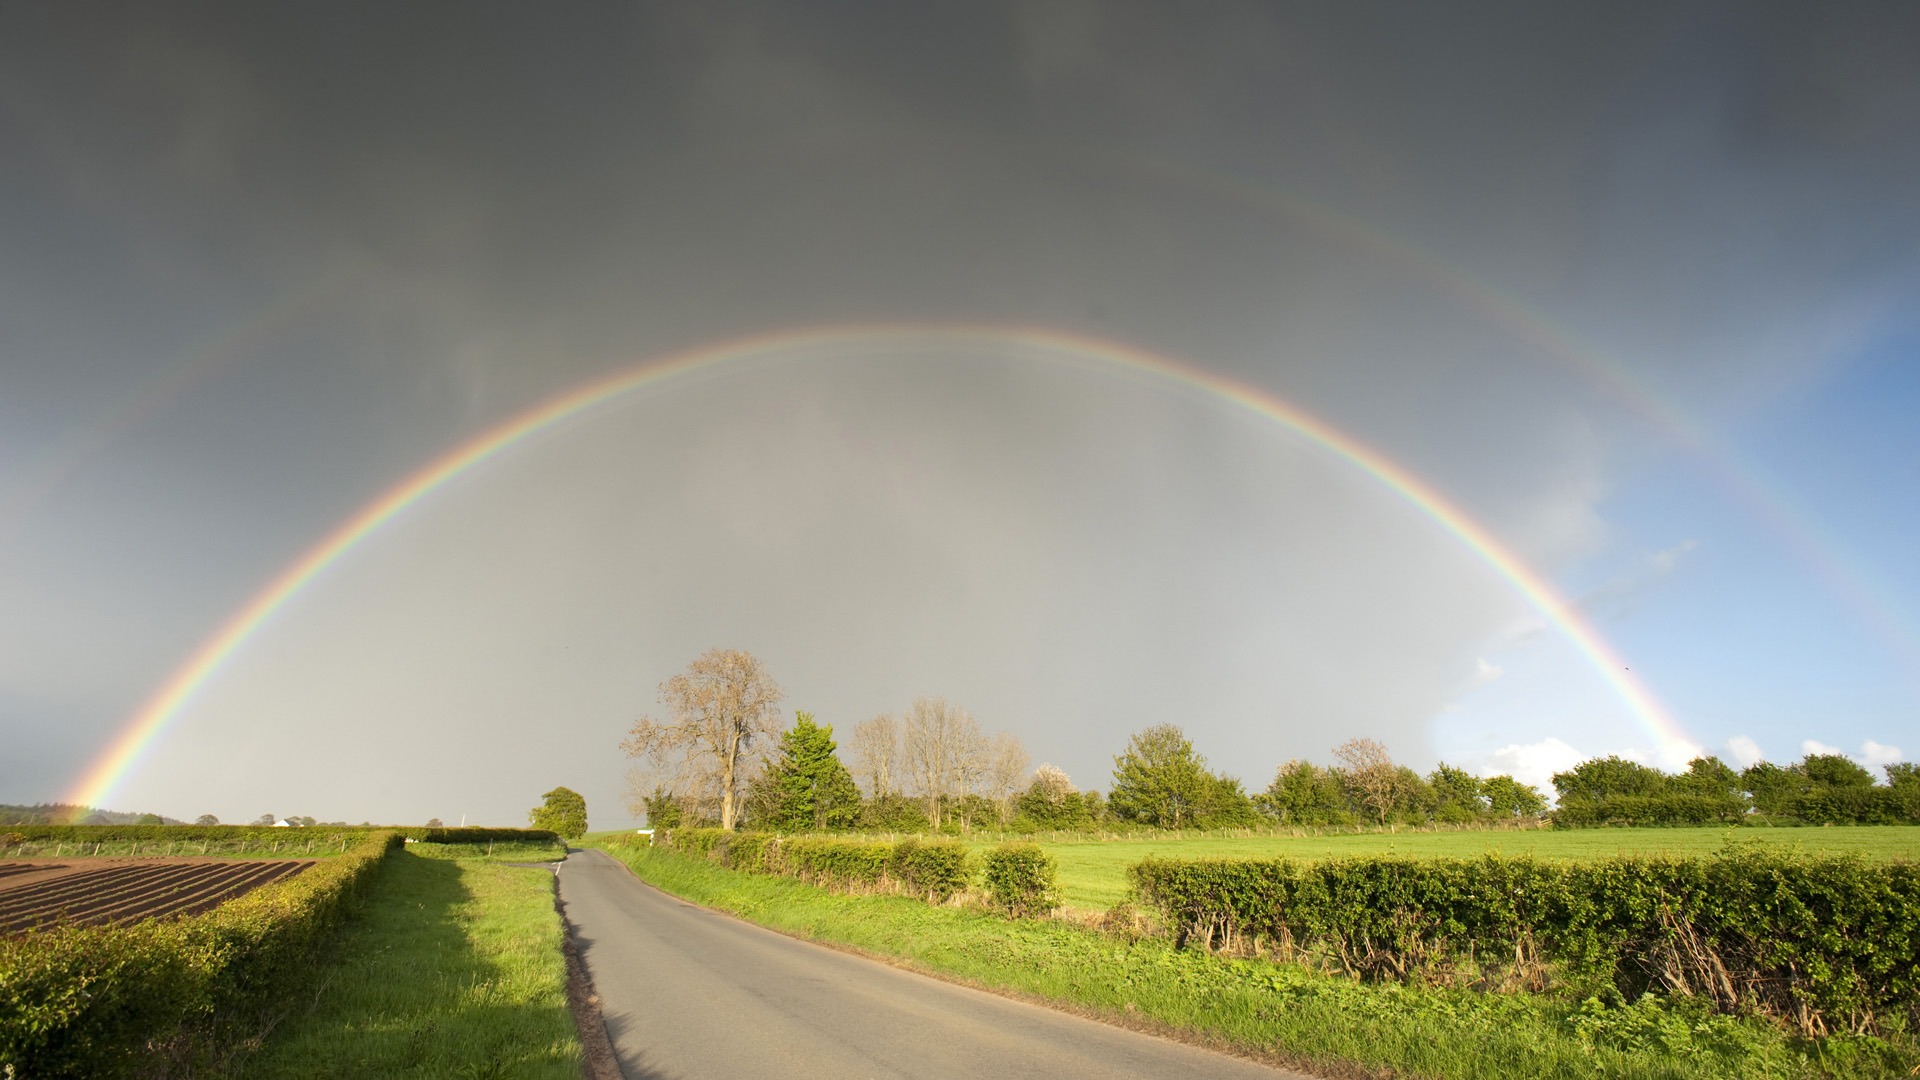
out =
[(641, 717), (620, 748), (670, 773), (691, 798), (718, 803), (720, 828), (733, 828), (758, 763), (755, 744), (780, 734), (780, 684), (753, 653), (707, 650), (660, 684), (668, 721)]

